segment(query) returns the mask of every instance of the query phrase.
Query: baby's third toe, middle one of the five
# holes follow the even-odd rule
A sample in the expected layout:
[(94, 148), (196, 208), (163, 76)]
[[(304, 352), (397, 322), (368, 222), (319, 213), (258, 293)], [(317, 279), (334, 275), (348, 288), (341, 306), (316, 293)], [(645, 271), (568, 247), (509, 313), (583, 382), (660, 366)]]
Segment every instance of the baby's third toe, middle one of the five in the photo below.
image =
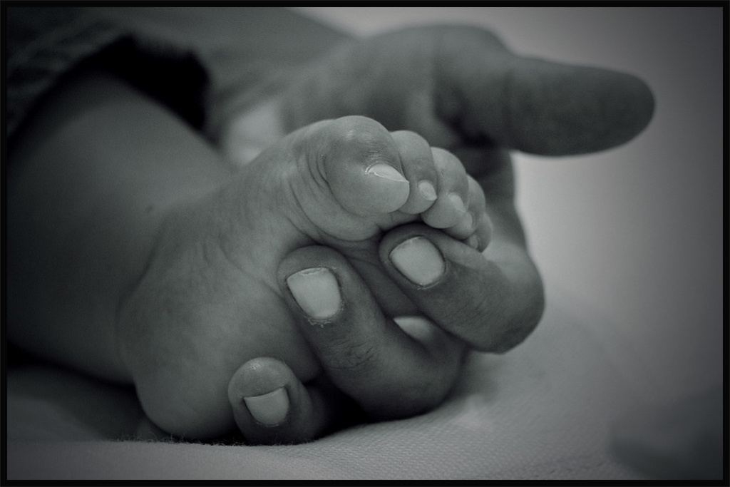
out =
[(433, 147), (431, 153), (439, 173), (437, 200), (421, 218), (434, 229), (447, 229), (467, 218), (469, 180), (461, 161), (452, 153), (438, 147)]

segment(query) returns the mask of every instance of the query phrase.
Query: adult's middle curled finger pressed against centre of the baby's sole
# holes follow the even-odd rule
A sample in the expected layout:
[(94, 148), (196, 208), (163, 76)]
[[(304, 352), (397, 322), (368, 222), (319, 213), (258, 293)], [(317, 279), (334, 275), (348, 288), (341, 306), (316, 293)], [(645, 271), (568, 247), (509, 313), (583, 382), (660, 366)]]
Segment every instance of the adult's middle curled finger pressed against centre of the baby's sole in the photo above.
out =
[(277, 275), (285, 302), (334, 386), (374, 419), (422, 413), (456, 380), (465, 345), (429, 321), (383, 315), (336, 250), (294, 250)]

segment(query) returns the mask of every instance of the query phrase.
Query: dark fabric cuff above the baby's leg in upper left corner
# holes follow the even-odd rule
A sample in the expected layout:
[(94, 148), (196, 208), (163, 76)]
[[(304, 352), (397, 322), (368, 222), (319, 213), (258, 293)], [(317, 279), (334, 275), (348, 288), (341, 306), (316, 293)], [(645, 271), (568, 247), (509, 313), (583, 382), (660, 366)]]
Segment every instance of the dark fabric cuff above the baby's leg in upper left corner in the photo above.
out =
[(8, 7), (6, 134), (42, 103), (58, 79), (95, 64), (146, 91), (200, 128), (207, 77), (189, 51), (76, 7)]

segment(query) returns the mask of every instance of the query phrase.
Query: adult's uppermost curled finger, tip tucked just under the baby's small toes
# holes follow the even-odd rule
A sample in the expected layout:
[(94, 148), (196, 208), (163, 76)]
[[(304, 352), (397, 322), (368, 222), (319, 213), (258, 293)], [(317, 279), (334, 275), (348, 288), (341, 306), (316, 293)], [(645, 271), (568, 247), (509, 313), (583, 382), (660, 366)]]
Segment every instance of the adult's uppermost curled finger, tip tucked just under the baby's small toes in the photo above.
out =
[(424, 315), (478, 350), (510, 350), (542, 316), (542, 281), (517, 242), (493, 239), (480, 252), (414, 223), (385, 235), (380, 258)]

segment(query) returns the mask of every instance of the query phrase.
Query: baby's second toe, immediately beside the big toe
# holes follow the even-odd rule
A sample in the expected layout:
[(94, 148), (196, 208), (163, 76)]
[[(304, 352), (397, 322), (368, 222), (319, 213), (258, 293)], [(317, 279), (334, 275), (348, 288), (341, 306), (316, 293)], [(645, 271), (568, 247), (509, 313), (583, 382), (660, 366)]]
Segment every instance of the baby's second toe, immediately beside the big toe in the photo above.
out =
[(400, 211), (418, 215), (428, 210), (437, 199), (439, 175), (431, 146), (412, 131), (395, 131), (391, 136), (400, 153), (403, 173), (412, 188)]

